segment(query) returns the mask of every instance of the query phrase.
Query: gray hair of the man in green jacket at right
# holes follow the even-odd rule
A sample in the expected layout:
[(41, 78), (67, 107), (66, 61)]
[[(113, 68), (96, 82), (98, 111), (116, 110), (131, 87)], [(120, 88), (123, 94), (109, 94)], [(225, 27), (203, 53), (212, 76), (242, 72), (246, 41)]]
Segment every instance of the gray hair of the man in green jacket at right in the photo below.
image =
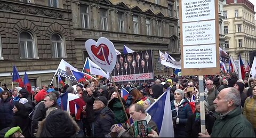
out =
[(229, 91), (227, 95), (225, 96), (225, 100), (233, 100), (236, 107), (239, 107), (241, 105), (241, 96), (240, 92), (236, 90), (234, 87), (228, 87)]

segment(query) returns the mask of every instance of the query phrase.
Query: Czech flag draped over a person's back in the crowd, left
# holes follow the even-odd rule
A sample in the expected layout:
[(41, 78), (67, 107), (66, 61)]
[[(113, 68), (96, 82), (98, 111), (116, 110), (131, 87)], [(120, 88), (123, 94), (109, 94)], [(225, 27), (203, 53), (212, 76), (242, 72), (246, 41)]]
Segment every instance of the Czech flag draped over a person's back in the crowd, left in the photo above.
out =
[(61, 109), (70, 112), (70, 115), (75, 116), (76, 120), (81, 120), (81, 113), (85, 102), (79, 96), (73, 93), (64, 93), (60, 96)]

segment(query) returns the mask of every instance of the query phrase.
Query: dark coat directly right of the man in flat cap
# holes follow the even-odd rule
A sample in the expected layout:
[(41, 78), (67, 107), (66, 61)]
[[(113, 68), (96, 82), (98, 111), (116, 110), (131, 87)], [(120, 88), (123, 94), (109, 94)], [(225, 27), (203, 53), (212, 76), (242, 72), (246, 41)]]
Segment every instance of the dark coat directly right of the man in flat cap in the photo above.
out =
[(121, 123), (125, 123), (126, 116), (125, 116), (125, 112), (123, 110), (123, 105), (120, 102), (120, 100), (118, 98), (114, 98), (112, 100), (109, 101), (108, 103), (108, 107), (114, 112), (115, 114), (115, 124), (121, 124)]

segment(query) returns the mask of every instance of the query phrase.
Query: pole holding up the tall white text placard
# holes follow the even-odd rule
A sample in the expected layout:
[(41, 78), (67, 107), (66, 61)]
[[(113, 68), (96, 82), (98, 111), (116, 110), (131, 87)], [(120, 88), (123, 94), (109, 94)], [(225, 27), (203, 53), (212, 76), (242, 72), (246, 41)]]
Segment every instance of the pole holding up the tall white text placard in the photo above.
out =
[(204, 109), (204, 77), (198, 76), (199, 80), (199, 101), (200, 101), (200, 119), (201, 119), (201, 133), (205, 134), (205, 109)]

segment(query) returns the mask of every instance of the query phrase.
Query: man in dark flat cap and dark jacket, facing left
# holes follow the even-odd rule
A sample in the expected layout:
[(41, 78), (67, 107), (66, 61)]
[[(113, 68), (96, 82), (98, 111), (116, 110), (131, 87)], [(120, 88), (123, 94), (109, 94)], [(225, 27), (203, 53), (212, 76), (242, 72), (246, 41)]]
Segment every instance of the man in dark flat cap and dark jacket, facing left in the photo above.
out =
[(108, 108), (108, 100), (105, 96), (94, 98), (94, 134), (93, 137), (105, 137), (110, 133), (110, 127), (114, 125), (115, 114)]

